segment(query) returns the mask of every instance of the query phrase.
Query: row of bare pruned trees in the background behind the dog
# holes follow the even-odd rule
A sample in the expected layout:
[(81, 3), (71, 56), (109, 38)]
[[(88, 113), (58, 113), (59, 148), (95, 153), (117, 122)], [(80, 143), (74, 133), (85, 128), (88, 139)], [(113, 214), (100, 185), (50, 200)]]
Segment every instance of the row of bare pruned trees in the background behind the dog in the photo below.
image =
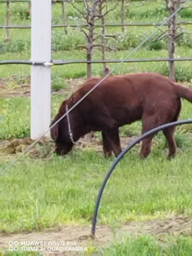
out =
[[(79, 1), (79, 0), (78, 0)], [(180, 4), (186, 2), (186, 0), (163, 0), (164, 5), (166, 5), (167, 10), (169, 10), (169, 15), (171, 16), (177, 8), (179, 8)], [(14, 2), (14, 1), (13, 1)], [(108, 45), (107, 38), (113, 37), (117, 38), (120, 34), (107, 34), (106, 33), (106, 16), (109, 12), (113, 12), (115, 9), (120, 9), (121, 15), (121, 28), (122, 33), (125, 36), (129, 36), (126, 33), (125, 29), (125, 12), (127, 8), (129, 8), (128, 3), (129, 0), (116, 0), (115, 2), (108, 1), (108, 0), (83, 0), (84, 8), (80, 9), (75, 5), (75, 2), (69, 2), (74, 8), (74, 10), (78, 11), (81, 18), (84, 19), (84, 25), (80, 26), (80, 31), (85, 35), (86, 44), (79, 45), (78, 48), (85, 48), (87, 53), (87, 77), (91, 76), (91, 60), (92, 60), (92, 51), (96, 47), (101, 48), (102, 52), (102, 60), (106, 60), (105, 51), (107, 49), (111, 50), (111, 47)], [(7, 0), (7, 17), (6, 17), (6, 25), (9, 26), (10, 24), (10, 3), (11, 0)], [(53, 3), (60, 3), (62, 8), (62, 19), (63, 19), (63, 26), (64, 26), (64, 33), (67, 36), (67, 19), (65, 15), (65, 1), (55, 0)], [(28, 10), (27, 10), (27, 17), (30, 16), (31, 12), (31, 5), (30, 2), (28, 3)], [(126, 4), (126, 8), (125, 8)], [(141, 6), (142, 8), (142, 6)], [(126, 9), (126, 10), (125, 10)], [(100, 21), (100, 22), (98, 22)], [(98, 32), (96, 28), (98, 28), (98, 23), (100, 23), (101, 31)], [(178, 33), (177, 33), (178, 31)], [(121, 34), (122, 34), (121, 33)], [(170, 78), (174, 80), (174, 51), (175, 51), (175, 41), (176, 39), (181, 36), (184, 32), (178, 30), (178, 26), (176, 23), (176, 15), (173, 16), (168, 22), (168, 29), (166, 31), (162, 31), (157, 38), (153, 38), (154, 41), (160, 41), (163, 38), (168, 38), (168, 55), (169, 59), (169, 70), (170, 70)], [(7, 36), (5, 39), (7, 42), (11, 40), (10, 31), (7, 29)], [(106, 63), (103, 63), (104, 72), (106, 72), (107, 67)]]

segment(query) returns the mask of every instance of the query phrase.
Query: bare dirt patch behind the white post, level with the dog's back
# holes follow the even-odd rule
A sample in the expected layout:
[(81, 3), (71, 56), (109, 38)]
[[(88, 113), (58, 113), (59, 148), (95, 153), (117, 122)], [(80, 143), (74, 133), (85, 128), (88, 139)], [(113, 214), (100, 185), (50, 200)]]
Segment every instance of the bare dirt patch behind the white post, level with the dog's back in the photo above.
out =
[[(84, 78), (66, 79), (66, 87), (57, 91), (52, 91), (53, 95), (66, 95), (73, 93), (85, 82)], [(31, 94), (30, 76), (0, 79), (0, 98), (29, 97)]]

